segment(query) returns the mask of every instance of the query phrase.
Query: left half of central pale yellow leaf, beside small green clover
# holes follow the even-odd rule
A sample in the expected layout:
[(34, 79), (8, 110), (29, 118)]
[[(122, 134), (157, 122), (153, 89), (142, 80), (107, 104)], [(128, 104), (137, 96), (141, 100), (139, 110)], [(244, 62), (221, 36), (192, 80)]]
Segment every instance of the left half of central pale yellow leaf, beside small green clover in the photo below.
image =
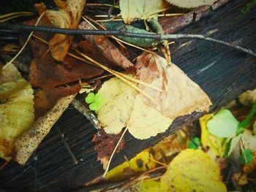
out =
[(114, 77), (106, 81), (98, 91), (103, 96), (97, 117), (107, 134), (118, 134), (127, 126), (137, 91)]

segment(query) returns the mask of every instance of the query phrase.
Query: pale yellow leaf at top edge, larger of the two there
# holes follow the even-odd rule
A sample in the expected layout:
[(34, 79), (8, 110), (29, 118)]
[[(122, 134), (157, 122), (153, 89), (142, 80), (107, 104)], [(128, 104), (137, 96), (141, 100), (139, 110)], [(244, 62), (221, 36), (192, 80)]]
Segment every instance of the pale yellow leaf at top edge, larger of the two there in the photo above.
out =
[(158, 12), (170, 7), (163, 0), (120, 0), (121, 17), (124, 23), (132, 23), (137, 19), (157, 17)]

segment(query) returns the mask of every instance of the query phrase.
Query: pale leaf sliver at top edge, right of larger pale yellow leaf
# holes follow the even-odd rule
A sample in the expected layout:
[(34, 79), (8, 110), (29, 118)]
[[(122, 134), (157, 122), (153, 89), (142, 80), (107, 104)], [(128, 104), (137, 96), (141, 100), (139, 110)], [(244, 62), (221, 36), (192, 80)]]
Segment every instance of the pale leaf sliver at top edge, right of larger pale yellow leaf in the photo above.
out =
[(201, 5), (212, 5), (216, 0), (166, 0), (170, 4), (173, 4), (181, 8), (194, 8)]

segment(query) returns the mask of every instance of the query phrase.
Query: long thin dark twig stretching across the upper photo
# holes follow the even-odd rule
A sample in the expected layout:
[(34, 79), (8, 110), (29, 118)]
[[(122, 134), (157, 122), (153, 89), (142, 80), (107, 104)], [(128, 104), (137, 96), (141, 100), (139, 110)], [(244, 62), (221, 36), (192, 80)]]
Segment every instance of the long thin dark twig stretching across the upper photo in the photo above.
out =
[(0, 23), (1, 29), (9, 29), (12, 31), (41, 31), (48, 33), (56, 33), (56, 34), (89, 34), (89, 35), (118, 35), (125, 37), (138, 37), (138, 38), (148, 38), (148, 39), (201, 39), (208, 42), (215, 42), (220, 45), (225, 45), (227, 47), (233, 47), (236, 50), (240, 50), (244, 53), (248, 53), (250, 55), (256, 56), (256, 53), (252, 52), (252, 50), (246, 49), (244, 47), (240, 47), (238, 45), (234, 45), (230, 42), (224, 42), (219, 39), (214, 39), (211, 37), (206, 37), (200, 34), (135, 34), (129, 33), (125, 30), (120, 31), (95, 31), (95, 30), (81, 30), (81, 29), (69, 29), (69, 28), (50, 28), (50, 27), (42, 27), (42, 26), (22, 26), (22, 25), (13, 25), (9, 23)]

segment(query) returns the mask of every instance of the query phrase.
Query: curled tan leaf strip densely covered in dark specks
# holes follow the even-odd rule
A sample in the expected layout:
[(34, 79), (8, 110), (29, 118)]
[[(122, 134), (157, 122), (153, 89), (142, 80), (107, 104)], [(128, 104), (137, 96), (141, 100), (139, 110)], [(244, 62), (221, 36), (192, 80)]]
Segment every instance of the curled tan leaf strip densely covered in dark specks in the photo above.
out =
[(44, 116), (38, 118), (27, 131), (15, 140), (12, 158), (19, 164), (26, 164), (30, 155), (37, 149), (42, 139), (50, 131), (50, 128), (56, 123), (64, 110), (67, 109), (75, 95), (61, 98), (54, 107)]

